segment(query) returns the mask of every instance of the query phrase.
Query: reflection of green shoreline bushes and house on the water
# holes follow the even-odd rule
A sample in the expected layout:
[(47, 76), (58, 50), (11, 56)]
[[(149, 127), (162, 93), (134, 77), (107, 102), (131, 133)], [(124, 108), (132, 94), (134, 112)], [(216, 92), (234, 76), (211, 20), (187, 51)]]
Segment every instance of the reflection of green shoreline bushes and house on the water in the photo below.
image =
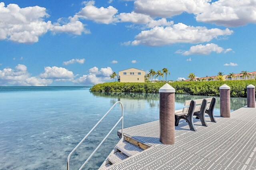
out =
[[(159, 94), (158, 93), (128, 93), (128, 92), (91, 92), (93, 96), (111, 98), (110, 102), (114, 104), (117, 101), (123, 102), (126, 106), (129, 106), (127, 109), (135, 109), (146, 107), (145, 101), (150, 107), (159, 107)], [(186, 100), (196, 100), (202, 98), (209, 98), (210, 96), (192, 96), (186, 94), (176, 94), (175, 95), (175, 104), (179, 107), (184, 104)], [(220, 108), (220, 97), (215, 96), (216, 98), (216, 109)], [(134, 102), (136, 100), (136, 102)], [(230, 99), (230, 108), (231, 111), (237, 110), (241, 107), (246, 106), (246, 98), (231, 98)], [(136, 106), (138, 105), (138, 106)], [(176, 108), (177, 109), (177, 108)]]

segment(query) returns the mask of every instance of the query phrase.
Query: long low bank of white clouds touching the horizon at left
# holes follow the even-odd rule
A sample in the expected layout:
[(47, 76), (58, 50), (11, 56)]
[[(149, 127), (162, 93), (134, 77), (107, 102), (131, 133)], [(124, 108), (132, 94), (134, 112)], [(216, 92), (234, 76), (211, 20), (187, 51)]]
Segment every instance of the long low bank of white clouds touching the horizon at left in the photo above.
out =
[(88, 74), (79, 77), (66, 68), (46, 66), (44, 72), (38, 76), (31, 76), (24, 64), (18, 64), (14, 69), (0, 70), (0, 84), (2, 86), (47, 86), (54, 81), (71, 81), (74, 84), (93, 85), (109, 81), (109, 75), (112, 73), (111, 67), (99, 70), (94, 66), (88, 70)]

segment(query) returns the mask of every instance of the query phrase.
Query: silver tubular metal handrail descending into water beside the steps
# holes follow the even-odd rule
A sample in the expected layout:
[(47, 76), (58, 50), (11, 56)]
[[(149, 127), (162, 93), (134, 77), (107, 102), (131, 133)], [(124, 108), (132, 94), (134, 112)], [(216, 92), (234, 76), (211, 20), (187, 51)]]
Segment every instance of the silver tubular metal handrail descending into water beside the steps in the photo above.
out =
[(79, 168), (79, 170), (82, 170), (82, 168), (84, 168), (84, 166), (87, 164), (87, 162), (90, 160), (90, 158), (92, 158), (92, 156), (94, 155), (94, 153), (100, 148), (100, 146), (102, 145), (102, 143), (107, 139), (107, 137), (110, 135), (110, 133), (115, 129), (115, 127), (118, 125), (118, 123), (122, 120), (122, 137), (124, 137), (123, 134), (123, 129), (124, 129), (124, 107), (122, 102), (118, 101), (116, 102), (109, 110), (108, 112), (98, 121), (98, 123), (96, 123), (96, 125), (94, 125), (94, 127), (87, 133), (87, 135), (85, 135), (85, 137), (80, 141), (80, 143), (78, 143), (78, 145), (76, 145), (76, 147), (70, 152), (70, 154), (68, 155), (68, 159), (67, 159), (67, 170), (69, 170), (69, 159), (70, 156), (74, 153), (74, 151), (84, 142), (84, 140), (90, 135), (90, 133), (95, 129), (96, 126), (98, 126), (98, 124), (104, 119), (104, 117), (106, 117), (106, 115), (108, 115), (108, 113), (114, 108), (114, 106), (116, 106), (116, 104), (120, 104), (122, 107), (122, 117), (120, 117), (120, 119), (117, 121), (116, 125), (114, 125), (114, 127), (112, 127), (112, 129), (109, 131), (109, 133), (106, 135), (106, 137), (100, 142), (100, 144), (96, 147), (96, 149), (92, 152), (92, 154), (86, 159), (86, 161), (84, 162), (84, 164), (82, 164), (82, 166)]

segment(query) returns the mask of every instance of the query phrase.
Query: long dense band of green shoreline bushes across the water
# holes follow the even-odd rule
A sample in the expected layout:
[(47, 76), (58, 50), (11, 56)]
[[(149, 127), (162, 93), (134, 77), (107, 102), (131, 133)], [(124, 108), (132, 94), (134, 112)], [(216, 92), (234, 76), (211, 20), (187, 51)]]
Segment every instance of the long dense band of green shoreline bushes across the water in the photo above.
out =
[[(166, 82), (145, 82), (145, 83), (124, 83), (124, 82), (106, 82), (96, 84), (90, 88), (92, 92), (144, 92), (158, 93)], [(220, 96), (219, 87), (223, 84), (230, 86), (230, 97), (247, 97), (246, 86), (252, 84), (256, 86), (256, 80), (227, 80), (227, 81), (186, 81), (169, 82), (176, 90), (176, 94), (189, 94), (197, 96)]]

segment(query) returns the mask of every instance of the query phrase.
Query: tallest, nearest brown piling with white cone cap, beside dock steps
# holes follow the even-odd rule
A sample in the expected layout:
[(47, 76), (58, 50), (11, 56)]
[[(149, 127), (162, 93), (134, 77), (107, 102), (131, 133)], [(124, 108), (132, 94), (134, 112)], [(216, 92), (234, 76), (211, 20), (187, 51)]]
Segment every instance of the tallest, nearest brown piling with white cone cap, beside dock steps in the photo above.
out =
[(159, 89), (160, 142), (172, 145), (175, 142), (175, 89), (166, 83)]

